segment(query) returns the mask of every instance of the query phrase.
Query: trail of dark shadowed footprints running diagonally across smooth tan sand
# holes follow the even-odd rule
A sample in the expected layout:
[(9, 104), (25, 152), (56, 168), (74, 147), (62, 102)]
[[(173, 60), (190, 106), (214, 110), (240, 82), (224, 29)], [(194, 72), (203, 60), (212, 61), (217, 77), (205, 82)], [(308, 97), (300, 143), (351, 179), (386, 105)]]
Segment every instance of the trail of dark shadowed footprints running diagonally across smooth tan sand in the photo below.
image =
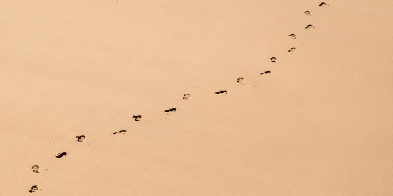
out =
[[(318, 6), (324, 7), (324, 6), (329, 6), (329, 4), (327, 4), (326, 2), (321, 2), (321, 3), (319, 3)], [(307, 16), (311, 16), (311, 12), (310, 11), (305, 11), (304, 14), (306, 14)], [(315, 26), (314, 25), (307, 25), (305, 28), (306, 29), (311, 29), (311, 28), (315, 28)], [(294, 33), (291, 33), (288, 36), (290, 36), (292, 39), (297, 39), (296, 35)], [(287, 51), (288, 52), (293, 52), (295, 50), (296, 50), (296, 48), (292, 47), (292, 48), (290, 48)], [(273, 63), (277, 62), (277, 57), (275, 57), (275, 56), (270, 57), (270, 61), (273, 62)], [(260, 75), (266, 75), (266, 74), (270, 74), (270, 73), (271, 73), (271, 71), (264, 71), (264, 72), (260, 73)], [(237, 78), (237, 83), (238, 84), (243, 84), (243, 82), (244, 82), (244, 78), (243, 77)], [(228, 92), (226, 90), (220, 90), (220, 91), (214, 92), (214, 94), (217, 94), (217, 95), (225, 94), (225, 95), (227, 95)], [(183, 99), (184, 100), (187, 100), (189, 98), (191, 98), (190, 94), (184, 94), (183, 95)], [(170, 113), (170, 112), (176, 112), (176, 110), (177, 110), (177, 108), (174, 107), (174, 108), (166, 109), (166, 110), (164, 110), (164, 112), (165, 113)], [(132, 118), (136, 122), (139, 122), (141, 120), (141, 118), (142, 118), (142, 115), (133, 115)], [(119, 135), (119, 134), (126, 134), (126, 133), (127, 133), (126, 130), (120, 130), (120, 131), (113, 132), (112, 134), (113, 135)], [(83, 142), (85, 137), (86, 137), (85, 135), (78, 135), (78, 136), (76, 136), (76, 139), (77, 139), (76, 141), (77, 142)], [(63, 151), (63, 152), (57, 153), (57, 155), (55, 157), (56, 157), (56, 159), (61, 159), (61, 158), (66, 157), (68, 155), (69, 155), (68, 152)], [(39, 173), (39, 166), (38, 165), (34, 165), (34, 166), (31, 167), (31, 170), (32, 170), (33, 173)], [(29, 193), (34, 193), (34, 192), (39, 191), (39, 190), (41, 190), (41, 189), (38, 188), (38, 185), (33, 185), (28, 190), (28, 192)]]

